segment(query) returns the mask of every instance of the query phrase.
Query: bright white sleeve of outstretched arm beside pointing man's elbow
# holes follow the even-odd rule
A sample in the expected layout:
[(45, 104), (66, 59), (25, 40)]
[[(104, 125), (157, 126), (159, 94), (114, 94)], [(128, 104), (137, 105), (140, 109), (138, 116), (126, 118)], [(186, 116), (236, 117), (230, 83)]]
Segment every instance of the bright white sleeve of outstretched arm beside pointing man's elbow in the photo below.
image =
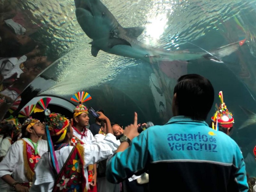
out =
[(95, 164), (99, 161), (107, 159), (108, 156), (113, 155), (120, 145), (116, 137), (108, 133), (104, 140), (99, 143), (93, 142), (91, 145), (84, 145), (84, 162), (85, 167), (89, 164)]

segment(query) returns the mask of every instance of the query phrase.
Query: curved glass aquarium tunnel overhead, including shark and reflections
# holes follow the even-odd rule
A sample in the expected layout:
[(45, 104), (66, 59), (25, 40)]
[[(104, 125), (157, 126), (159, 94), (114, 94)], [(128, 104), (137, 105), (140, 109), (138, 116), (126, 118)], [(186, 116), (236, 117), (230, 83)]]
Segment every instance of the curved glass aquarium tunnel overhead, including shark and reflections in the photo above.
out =
[(256, 176), (256, 0), (88, 2), (1, 1), (0, 119), (35, 96), (86, 91), (85, 105), (112, 121), (130, 124), (137, 111), (140, 123), (164, 124), (178, 77), (197, 73), (215, 89), (207, 121), (223, 91), (230, 136)]

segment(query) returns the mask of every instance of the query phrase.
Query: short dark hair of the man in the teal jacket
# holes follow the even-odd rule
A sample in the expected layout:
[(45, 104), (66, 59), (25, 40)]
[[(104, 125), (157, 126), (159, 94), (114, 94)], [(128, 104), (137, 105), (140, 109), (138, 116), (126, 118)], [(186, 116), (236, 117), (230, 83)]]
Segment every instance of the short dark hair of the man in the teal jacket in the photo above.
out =
[(174, 87), (179, 115), (204, 121), (212, 108), (214, 90), (211, 82), (203, 76), (181, 76)]

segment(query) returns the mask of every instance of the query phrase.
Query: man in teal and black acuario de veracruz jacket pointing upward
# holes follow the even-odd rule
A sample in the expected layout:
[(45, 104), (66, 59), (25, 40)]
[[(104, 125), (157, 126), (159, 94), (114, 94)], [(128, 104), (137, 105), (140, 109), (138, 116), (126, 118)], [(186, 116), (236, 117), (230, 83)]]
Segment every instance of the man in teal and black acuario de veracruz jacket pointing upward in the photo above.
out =
[(107, 164), (108, 181), (118, 183), (148, 170), (150, 191), (171, 186), (173, 191), (247, 192), (239, 146), (205, 122), (213, 101), (208, 79), (197, 74), (181, 76), (173, 92), (174, 116), (165, 125), (139, 134), (135, 113), (134, 124), (124, 129), (121, 144)]

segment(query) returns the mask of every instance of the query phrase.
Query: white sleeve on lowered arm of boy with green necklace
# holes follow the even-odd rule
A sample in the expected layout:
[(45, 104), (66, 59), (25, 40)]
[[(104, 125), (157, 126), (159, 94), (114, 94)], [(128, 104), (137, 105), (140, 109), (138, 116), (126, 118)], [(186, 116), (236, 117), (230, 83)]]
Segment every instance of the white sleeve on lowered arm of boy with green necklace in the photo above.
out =
[(19, 154), (19, 150), (19, 144), (17, 142), (13, 143), (5, 158), (0, 163), (0, 177), (12, 175), (14, 167), (17, 166), (16, 164), (19, 161), (19, 156), (16, 155)]

